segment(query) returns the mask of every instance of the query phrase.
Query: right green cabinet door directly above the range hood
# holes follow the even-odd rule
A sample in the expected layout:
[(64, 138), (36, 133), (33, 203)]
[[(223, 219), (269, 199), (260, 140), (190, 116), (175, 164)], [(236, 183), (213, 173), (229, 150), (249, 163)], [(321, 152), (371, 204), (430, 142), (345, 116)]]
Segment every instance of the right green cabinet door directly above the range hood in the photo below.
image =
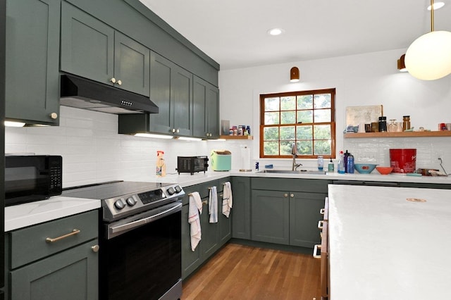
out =
[(114, 77), (121, 89), (149, 96), (150, 50), (120, 32), (114, 35)]

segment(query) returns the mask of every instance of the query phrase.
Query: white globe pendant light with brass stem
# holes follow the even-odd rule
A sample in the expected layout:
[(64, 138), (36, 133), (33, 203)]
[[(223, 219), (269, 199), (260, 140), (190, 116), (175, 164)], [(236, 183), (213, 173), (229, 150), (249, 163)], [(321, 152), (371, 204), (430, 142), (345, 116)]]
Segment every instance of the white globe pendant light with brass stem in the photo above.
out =
[(431, 0), (431, 32), (416, 39), (405, 56), (407, 70), (421, 80), (437, 80), (451, 74), (451, 32), (434, 31), (433, 4)]

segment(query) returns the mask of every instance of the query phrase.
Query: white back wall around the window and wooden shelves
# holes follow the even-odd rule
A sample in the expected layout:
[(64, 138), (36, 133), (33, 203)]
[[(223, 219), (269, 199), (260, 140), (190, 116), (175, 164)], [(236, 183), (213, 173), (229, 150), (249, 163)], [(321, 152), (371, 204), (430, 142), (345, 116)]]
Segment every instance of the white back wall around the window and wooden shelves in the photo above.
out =
[[(451, 75), (434, 81), (417, 80), (397, 71), (397, 59), (405, 49), (369, 54), (298, 61), (254, 68), (221, 70), (221, 119), (230, 124), (252, 124), (254, 161), (288, 167), (290, 160), (259, 158), (259, 95), (309, 89), (336, 88), (337, 150), (349, 149), (361, 161), (387, 165), (390, 148), (417, 148), (417, 167), (436, 168), (442, 156), (451, 171), (450, 138), (343, 139), (347, 106), (383, 105), (387, 119), (410, 115), (411, 125), (437, 130), (438, 123), (451, 123)], [(301, 80), (290, 83), (290, 68), (297, 66)], [(302, 161), (314, 167), (314, 160)]]

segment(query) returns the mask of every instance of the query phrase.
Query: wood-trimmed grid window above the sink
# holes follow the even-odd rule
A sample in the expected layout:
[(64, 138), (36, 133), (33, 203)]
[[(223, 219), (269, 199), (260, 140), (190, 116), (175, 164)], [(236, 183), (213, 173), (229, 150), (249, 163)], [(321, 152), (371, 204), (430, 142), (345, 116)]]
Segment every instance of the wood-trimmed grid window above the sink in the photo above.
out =
[(335, 158), (335, 89), (260, 95), (260, 157)]

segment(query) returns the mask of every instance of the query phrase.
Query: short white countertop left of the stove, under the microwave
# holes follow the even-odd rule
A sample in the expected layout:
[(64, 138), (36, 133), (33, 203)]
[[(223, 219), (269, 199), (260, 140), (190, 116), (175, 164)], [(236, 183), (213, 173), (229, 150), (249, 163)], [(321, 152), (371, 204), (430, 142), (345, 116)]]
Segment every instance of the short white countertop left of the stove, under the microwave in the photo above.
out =
[(5, 208), (5, 232), (84, 213), (100, 207), (100, 200), (52, 196)]

